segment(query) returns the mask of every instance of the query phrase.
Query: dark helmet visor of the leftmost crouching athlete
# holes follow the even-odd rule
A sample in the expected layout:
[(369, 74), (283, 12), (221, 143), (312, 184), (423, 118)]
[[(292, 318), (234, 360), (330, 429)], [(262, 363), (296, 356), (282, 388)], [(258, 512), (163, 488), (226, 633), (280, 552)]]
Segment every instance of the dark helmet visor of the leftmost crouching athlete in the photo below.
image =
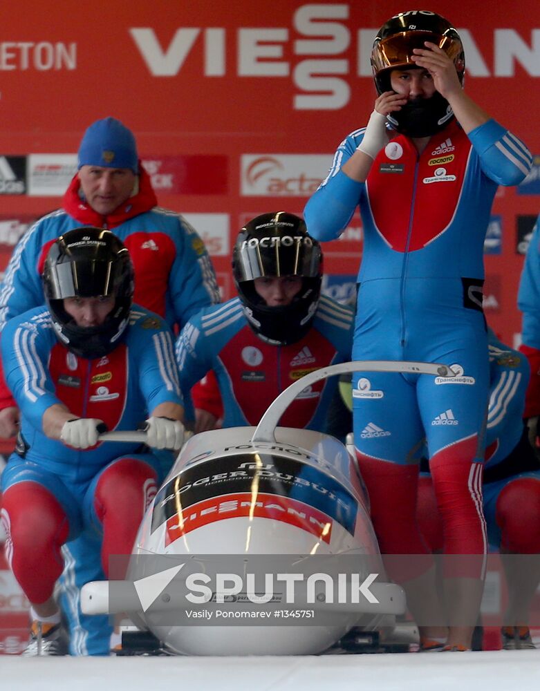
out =
[(122, 280), (122, 266), (117, 261), (90, 259), (71, 261), (50, 267), (49, 298), (115, 295)]

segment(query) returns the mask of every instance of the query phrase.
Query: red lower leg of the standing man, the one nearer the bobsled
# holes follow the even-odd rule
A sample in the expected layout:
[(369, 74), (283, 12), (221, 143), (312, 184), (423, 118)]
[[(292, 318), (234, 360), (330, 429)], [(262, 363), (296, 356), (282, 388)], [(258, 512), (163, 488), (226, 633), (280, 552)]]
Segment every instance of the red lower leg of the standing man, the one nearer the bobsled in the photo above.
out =
[[(402, 582), (431, 567), (432, 559), (416, 521), (418, 466), (400, 466), (356, 451), (366, 484), (371, 520), (389, 576)], [(407, 555), (407, 556), (405, 556)]]

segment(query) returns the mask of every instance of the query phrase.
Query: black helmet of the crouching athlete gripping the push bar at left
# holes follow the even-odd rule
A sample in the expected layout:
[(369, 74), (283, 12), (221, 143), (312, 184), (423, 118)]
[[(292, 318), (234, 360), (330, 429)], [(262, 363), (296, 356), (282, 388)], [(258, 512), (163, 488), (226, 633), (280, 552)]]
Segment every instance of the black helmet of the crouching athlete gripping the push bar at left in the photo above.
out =
[[(57, 337), (68, 350), (93, 359), (115, 348), (129, 321), (133, 265), (111, 231), (82, 227), (57, 238), (45, 260), (43, 286)], [(77, 326), (64, 310), (64, 298), (100, 295), (113, 295), (116, 300), (99, 326)]]

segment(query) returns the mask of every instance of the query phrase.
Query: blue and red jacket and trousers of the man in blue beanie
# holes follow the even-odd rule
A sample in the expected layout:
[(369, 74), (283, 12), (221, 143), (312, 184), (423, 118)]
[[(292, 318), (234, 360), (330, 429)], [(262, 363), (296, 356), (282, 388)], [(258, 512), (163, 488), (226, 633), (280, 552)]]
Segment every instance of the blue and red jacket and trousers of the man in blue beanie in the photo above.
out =
[[(201, 238), (180, 214), (158, 207), (149, 176), (144, 168), (139, 169), (138, 193), (114, 214), (97, 214), (82, 198), (75, 176), (64, 195), (62, 209), (39, 218), (26, 231), (15, 247), (0, 286), (0, 331), (8, 319), (44, 302), (41, 272), (48, 249), (59, 235), (82, 225), (109, 228), (122, 240), (135, 268), (135, 301), (160, 314), (169, 326), (182, 328), (192, 314), (219, 302), (214, 269)], [(0, 375), (0, 408), (5, 408), (13, 401), (1, 379)], [(112, 629), (106, 618), (80, 613), (75, 587), (75, 582), (104, 578), (100, 545), (84, 533), (64, 547), (64, 560), (66, 573), (62, 580), (68, 587), (62, 595), (63, 606), (79, 612), (73, 626), (77, 631), (80, 626), (89, 631), (101, 627), (103, 632), (101, 642), (93, 635), (88, 645), (84, 636), (77, 635), (72, 640), (71, 652), (106, 654)], [(77, 645), (77, 641), (83, 643)]]

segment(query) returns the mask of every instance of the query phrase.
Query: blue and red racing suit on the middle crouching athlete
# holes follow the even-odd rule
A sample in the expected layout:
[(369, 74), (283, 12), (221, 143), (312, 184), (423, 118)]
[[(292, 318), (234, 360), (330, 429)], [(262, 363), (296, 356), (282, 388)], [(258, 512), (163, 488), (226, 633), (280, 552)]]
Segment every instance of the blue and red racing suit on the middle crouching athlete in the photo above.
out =
[[(180, 386), (192, 386), (214, 370), (223, 401), (223, 427), (257, 425), (275, 397), (294, 381), (322, 367), (348, 362), (353, 312), (322, 296), (308, 333), (289, 345), (272, 345), (254, 333), (242, 304), (233, 298), (205, 307), (189, 320), (176, 344)], [(308, 386), (283, 414), (284, 426), (324, 432), (337, 379)]]

